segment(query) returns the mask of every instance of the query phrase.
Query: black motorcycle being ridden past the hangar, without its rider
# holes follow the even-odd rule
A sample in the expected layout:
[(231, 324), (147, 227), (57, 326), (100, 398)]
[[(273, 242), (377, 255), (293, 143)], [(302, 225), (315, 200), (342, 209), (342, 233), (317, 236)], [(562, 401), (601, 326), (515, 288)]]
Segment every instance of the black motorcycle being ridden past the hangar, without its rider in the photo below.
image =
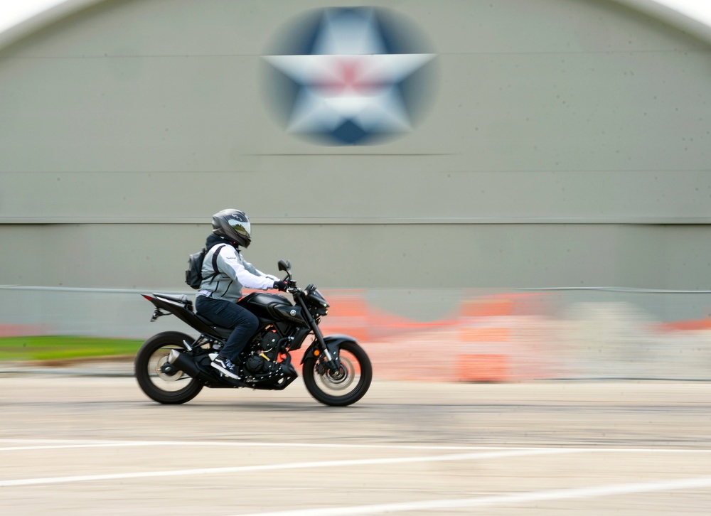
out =
[(159, 403), (180, 404), (196, 397), (203, 387), (285, 389), (298, 377), (289, 352), (301, 348), (311, 334), (314, 339), (301, 360), (309, 393), (334, 407), (362, 398), (373, 378), (368, 355), (348, 335), (321, 334), (319, 322), (328, 313), (328, 303), (314, 285), (297, 288), (290, 269), (289, 262), (279, 261), (279, 270), (287, 273), (287, 292), (294, 303), (265, 292), (254, 292), (237, 301), (260, 321), (240, 354), (242, 380), (224, 376), (210, 366), (232, 329), (215, 326), (195, 313), (188, 296), (143, 294), (156, 307), (151, 322), (173, 314), (200, 333), (194, 339), (185, 333), (165, 331), (141, 345), (135, 366), (143, 392)]

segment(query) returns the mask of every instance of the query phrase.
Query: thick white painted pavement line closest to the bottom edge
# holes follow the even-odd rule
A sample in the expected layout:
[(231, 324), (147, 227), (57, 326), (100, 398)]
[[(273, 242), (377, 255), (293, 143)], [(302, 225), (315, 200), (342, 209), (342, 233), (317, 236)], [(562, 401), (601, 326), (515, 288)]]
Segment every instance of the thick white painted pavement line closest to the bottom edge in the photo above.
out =
[(441, 510), (474, 507), (493, 507), (513, 503), (546, 502), (553, 500), (571, 500), (579, 498), (599, 498), (631, 493), (653, 493), (678, 489), (710, 488), (711, 477), (679, 478), (676, 480), (658, 480), (656, 482), (596, 485), (588, 488), (553, 489), (530, 493), (512, 493), (510, 495), (483, 496), (479, 498), (461, 498), (448, 500), (422, 500), (419, 502), (383, 503), (378, 505), (360, 505), (355, 507), (333, 507), (320, 509), (299, 509), (277, 512), (255, 512), (240, 516), (360, 516), (384, 514), (385, 512), (407, 512), (422, 510)]

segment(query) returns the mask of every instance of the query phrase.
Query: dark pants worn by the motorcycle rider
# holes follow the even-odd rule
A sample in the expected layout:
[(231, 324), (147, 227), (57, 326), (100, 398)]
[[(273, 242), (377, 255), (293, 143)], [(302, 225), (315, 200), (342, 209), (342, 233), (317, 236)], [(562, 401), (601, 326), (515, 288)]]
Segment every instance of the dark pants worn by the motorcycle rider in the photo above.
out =
[(215, 325), (223, 328), (235, 328), (225, 347), (220, 350), (220, 356), (229, 358), (235, 363), (240, 362), (240, 359), (237, 358), (240, 351), (245, 349), (259, 326), (257, 316), (231, 301), (205, 296), (196, 296), (195, 308), (201, 316), (210, 319)]

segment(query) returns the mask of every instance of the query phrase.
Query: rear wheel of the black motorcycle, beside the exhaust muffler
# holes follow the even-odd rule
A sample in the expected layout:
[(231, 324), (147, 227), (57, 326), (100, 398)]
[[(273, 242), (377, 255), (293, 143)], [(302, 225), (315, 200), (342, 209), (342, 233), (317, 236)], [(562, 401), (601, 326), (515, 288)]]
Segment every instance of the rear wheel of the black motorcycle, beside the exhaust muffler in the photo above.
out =
[(141, 345), (136, 354), (136, 380), (141, 390), (156, 402), (181, 404), (189, 402), (203, 389), (203, 384), (182, 371), (172, 374), (161, 371), (171, 350), (185, 351), (183, 340), (193, 338), (177, 331), (165, 331), (154, 335)]

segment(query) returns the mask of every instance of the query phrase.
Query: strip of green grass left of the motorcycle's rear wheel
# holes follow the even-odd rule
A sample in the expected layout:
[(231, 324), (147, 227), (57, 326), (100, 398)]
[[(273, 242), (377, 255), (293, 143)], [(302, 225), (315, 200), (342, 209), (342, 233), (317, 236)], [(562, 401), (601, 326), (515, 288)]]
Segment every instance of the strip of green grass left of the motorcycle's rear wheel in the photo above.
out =
[(0, 338), (3, 360), (66, 360), (72, 358), (135, 355), (142, 340), (99, 337), (4, 337)]

